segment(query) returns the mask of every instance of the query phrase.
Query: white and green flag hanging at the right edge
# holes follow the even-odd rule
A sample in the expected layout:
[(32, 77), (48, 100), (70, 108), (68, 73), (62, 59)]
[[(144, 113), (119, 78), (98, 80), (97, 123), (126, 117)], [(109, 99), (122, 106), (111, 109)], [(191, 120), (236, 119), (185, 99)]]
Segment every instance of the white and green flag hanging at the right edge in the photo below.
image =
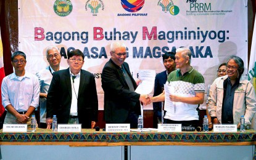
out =
[(256, 21), (254, 22), (254, 33), (252, 34), (252, 47), (250, 48), (250, 62), (248, 68), (248, 80), (256, 90)]

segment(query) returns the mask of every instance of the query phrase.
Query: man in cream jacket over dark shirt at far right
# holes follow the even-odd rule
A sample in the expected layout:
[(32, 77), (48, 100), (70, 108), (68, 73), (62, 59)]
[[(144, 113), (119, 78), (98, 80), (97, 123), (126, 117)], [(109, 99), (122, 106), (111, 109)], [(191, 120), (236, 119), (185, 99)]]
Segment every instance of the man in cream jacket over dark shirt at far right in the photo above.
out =
[(226, 63), (227, 75), (215, 79), (210, 87), (208, 111), (213, 124), (237, 124), (244, 116), (246, 126), (256, 112), (256, 95), (252, 84), (242, 78), (244, 62), (236, 55), (231, 55)]

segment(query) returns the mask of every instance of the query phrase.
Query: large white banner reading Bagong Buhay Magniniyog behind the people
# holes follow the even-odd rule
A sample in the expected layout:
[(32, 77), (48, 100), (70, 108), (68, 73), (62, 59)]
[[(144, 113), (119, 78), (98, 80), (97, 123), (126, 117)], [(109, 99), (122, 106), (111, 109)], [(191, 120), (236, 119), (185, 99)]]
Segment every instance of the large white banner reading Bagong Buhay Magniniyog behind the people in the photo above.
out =
[(83, 69), (95, 75), (99, 110), (104, 100), (101, 73), (112, 41), (125, 42), (134, 79), (139, 70), (165, 70), (161, 56), (168, 50), (189, 47), (191, 65), (204, 75), (207, 88), (229, 55), (241, 57), (247, 66), (247, 0), (19, 1), (25, 69), (36, 73), (49, 65), (47, 46), (59, 47), (66, 68), (67, 50), (82, 50)]

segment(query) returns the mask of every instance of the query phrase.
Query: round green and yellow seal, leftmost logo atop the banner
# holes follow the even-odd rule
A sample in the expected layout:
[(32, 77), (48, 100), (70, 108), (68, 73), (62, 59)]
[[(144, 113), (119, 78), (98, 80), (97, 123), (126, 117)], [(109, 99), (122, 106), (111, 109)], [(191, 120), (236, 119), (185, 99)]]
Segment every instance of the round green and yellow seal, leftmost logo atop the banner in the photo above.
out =
[(73, 5), (69, 0), (56, 0), (53, 5), (54, 12), (60, 17), (65, 17), (72, 12)]

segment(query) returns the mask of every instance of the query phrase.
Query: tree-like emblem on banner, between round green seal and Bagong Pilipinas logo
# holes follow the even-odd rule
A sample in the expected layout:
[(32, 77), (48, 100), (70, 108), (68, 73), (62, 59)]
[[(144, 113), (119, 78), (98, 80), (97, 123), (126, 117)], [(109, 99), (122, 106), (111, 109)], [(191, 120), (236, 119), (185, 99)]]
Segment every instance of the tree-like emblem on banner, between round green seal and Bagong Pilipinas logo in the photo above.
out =
[(99, 12), (99, 9), (104, 10), (104, 4), (101, 0), (89, 0), (85, 4), (85, 10), (91, 9), (91, 14), (93, 16), (97, 16), (97, 13)]

